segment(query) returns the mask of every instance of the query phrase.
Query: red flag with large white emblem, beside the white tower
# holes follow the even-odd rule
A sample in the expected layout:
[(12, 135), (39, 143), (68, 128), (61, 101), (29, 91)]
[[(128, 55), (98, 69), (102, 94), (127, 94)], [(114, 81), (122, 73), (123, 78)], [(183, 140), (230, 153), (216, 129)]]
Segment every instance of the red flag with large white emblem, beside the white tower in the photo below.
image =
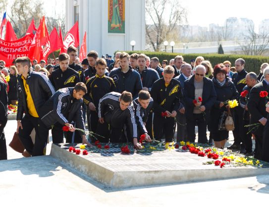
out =
[(69, 32), (66, 34), (64, 38), (63, 47), (64, 47), (65, 53), (67, 52), (67, 48), (69, 46), (74, 46), (74, 47), (79, 46), (78, 21), (76, 21), (74, 26), (69, 30)]

